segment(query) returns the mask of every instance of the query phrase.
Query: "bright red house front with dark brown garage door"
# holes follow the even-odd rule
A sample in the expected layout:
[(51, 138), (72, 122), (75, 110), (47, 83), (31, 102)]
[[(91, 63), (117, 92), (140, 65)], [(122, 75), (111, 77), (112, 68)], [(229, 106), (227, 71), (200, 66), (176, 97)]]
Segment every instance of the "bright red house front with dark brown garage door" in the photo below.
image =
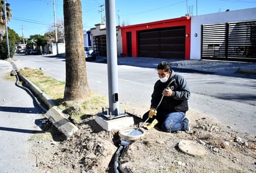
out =
[(190, 17), (120, 27), (123, 54), (190, 59)]

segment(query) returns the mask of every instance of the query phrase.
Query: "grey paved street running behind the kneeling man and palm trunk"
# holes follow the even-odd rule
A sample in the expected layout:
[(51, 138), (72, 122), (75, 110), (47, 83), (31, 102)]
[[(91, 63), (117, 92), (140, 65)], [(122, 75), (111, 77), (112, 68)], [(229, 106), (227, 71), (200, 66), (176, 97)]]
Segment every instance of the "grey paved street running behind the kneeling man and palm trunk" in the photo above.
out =
[[(65, 57), (14, 56), (15, 68), (43, 69), (45, 75), (65, 81)], [(142, 116), (150, 106), (153, 84), (158, 79), (155, 68), (158, 62), (175, 60), (143, 57), (118, 59), (119, 102), (140, 108)], [(107, 64), (86, 62), (89, 87), (103, 96), (107, 92)], [(201, 63), (201, 62), (199, 62)], [(254, 63), (210, 61), (209, 64), (173, 66), (183, 75), (191, 90), (190, 109), (194, 109), (244, 132), (256, 134), (255, 74), (236, 74), (239, 68), (254, 69)], [(244, 119), (243, 117), (247, 117)]]

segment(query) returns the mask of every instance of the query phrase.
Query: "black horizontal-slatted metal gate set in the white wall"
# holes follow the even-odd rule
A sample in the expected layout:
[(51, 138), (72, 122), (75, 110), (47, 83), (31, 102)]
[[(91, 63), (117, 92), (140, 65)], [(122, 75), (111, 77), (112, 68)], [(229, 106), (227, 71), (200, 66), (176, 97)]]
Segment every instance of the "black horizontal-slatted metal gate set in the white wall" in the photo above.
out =
[(256, 62), (256, 21), (202, 25), (202, 59)]

